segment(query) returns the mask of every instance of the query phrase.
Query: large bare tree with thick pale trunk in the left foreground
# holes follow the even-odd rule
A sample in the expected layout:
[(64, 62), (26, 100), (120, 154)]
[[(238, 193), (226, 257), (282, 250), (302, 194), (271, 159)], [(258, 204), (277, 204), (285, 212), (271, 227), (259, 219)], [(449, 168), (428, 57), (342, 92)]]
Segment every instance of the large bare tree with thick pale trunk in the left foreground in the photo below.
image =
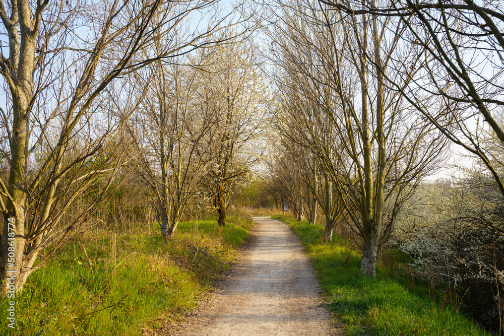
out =
[[(1, 113), (9, 162), (9, 178), (0, 179), (3, 292), (13, 277), (15, 290), (21, 290), (27, 277), (52, 255), (48, 250), (36, 262), (39, 253), (64, 241), (103, 199), (128, 153), (112, 139), (138, 107), (129, 100), (128, 76), (154, 60), (197, 47), (201, 34), (209, 33), (206, 29), (146, 53), (188, 14), (210, 4), (0, 2), (3, 34), (8, 36), (8, 47), (2, 49), (8, 56), (0, 61), (8, 97)], [(109, 99), (112, 93), (130, 102), (126, 110), (116, 109), (120, 104)], [(36, 165), (34, 159), (39, 160)], [(104, 173), (109, 173), (107, 182), (96, 197), (69, 222), (62, 222), (73, 201), (97, 186)]]

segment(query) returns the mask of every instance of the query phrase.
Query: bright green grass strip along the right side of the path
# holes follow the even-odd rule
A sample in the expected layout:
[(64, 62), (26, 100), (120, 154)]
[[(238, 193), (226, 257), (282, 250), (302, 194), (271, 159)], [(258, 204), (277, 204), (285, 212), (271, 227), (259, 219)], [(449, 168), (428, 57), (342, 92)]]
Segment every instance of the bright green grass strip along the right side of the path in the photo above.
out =
[(487, 335), (455, 308), (433, 302), (427, 288), (407, 286), (406, 278), (388, 280), (380, 269), (375, 279), (359, 276), (361, 256), (339, 236), (322, 244), (322, 226), (273, 218), (290, 225), (306, 247), (345, 335)]

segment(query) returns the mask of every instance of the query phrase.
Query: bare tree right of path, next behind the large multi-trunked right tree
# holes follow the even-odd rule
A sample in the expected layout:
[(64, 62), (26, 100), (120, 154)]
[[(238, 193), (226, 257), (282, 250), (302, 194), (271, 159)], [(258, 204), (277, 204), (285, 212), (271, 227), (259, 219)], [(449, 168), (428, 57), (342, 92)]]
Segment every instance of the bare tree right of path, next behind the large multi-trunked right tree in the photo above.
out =
[[(285, 59), (287, 62), (287, 59)], [(300, 153), (309, 155), (291, 155), (293, 162), (300, 166), (302, 178), (306, 183), (309, 193), (323, 210), (326, 224), (324, 240), (331, 241), (336, 226), (348, 217), (343, 209), (341, 198), (333, 197), (333, 181), (338, 179), (334, 169), (340, 164), (336, 160), (336, 153), (343, 147), (338, 145), (340, 138), (338, 131), (329, 116), (320, 113), (319, 106), (309, 99), (311, 93), (304, 92), (304, 85), (299, 83), (299, 77), (277, 76), (277, 86), (281, 92), (280, 113), (276, 114), (277, 127), (282, 136), (290, 140), (283, 143), (282, 151), (292, 152), (291, 147), (302, 146), (305, 148)], [(281, 80), (279, 80), (281, 79)], [(309, 84), (308, 84), (309, 85)], [(308, 93), (308, 97), (305, 94)], [(292, 145), (294, 144), (294, 145)], [(324, 158), (321, 160), (321, 158)], [(330, 165), (326, 161), (331, 162)]]

